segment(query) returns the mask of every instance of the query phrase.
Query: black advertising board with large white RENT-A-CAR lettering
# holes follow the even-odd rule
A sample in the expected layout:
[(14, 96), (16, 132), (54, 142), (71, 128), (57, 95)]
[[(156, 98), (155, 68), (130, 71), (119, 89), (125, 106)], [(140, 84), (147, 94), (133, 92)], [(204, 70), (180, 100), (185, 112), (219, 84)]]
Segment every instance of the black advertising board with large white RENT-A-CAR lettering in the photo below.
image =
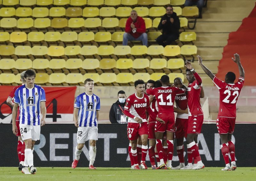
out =
[[(130, 167), (128, 155), (127, 126), (118, 124), (100, 124), (96, 167)], [(232, 136), (236, 146), (236, 164), (238, 167), (256, 166), (256, 124), (238, 124)], [(46, 124), (41, 129), (40, 141), (34, 147), (34, 165), (36, 167), (71, 167), (74, 159), (77, 128), (74, 124)], [(0, 124), (0, 167), (18, 167), (17, 137), (12, 133), (11, 124)], [(179, 164), (174, 141), (172, 166)], [(215, 124), (204, 124), (202, 134), (198, 135), (199, 152), (206, 167), (224, 167), (221, 154), (220, 136)], [(185, 150), (187, 150), (184, 142)], [(85, 143), (78, 167), (89, 165), (89, 143)], [(184, 152), (187, 163), (187, 153)], [(150, 162), (147, 156), (147, 163)]]

